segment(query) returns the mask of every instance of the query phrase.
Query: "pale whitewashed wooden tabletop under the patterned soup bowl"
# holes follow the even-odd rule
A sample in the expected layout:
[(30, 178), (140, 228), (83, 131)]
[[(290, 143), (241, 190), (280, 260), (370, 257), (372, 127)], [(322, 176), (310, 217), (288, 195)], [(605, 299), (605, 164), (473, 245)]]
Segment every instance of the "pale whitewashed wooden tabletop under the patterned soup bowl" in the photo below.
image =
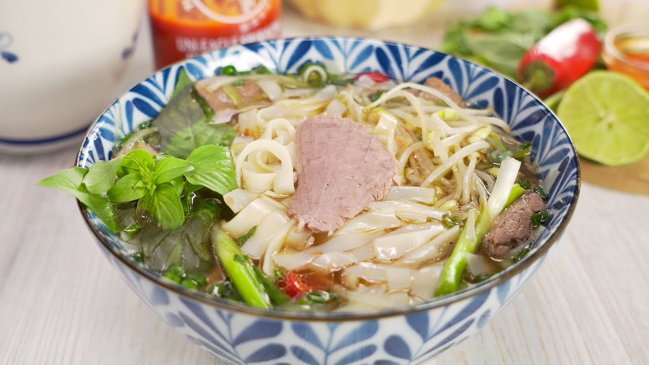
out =
[[(369, 34), (286, 9), (284, 34), (434, 46), (439, 22)], [(127, 86), (153, 71), (148, 37), (145, 23)], [(130, 291), (95, 247), (75, 199), (36, 187), (76, 152), (0, 155), (0, 364), (223, 364)], [(531, 283), (435, 364), (649, 364), (648, 216), (649, 197), (582, 184), (567, 231)]]

